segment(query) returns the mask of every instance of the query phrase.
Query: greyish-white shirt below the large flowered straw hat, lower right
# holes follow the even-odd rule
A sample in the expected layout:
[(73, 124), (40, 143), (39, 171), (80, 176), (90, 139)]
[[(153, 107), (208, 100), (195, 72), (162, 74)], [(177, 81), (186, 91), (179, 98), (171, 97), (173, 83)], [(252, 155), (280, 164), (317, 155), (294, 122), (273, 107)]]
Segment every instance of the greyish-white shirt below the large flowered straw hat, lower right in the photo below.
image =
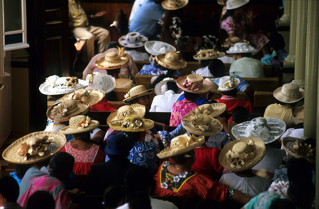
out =
[(270, 181), (267, 178), (255, 177), (239, 177), (235, 173), (227, 173), (221, 176), (219, 182), (229, 185), (229, 188), (238, 190), (249, 197), (255, 197), (261, 192), (268, 190)]

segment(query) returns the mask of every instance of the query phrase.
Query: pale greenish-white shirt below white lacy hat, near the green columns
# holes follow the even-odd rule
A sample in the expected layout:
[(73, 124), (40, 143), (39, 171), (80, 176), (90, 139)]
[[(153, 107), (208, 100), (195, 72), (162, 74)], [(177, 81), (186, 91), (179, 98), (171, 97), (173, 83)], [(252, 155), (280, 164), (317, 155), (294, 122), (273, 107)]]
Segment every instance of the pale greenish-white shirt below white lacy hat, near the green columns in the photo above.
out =
[(243, 57), (234, 60), (229, 68), (229, 75), (241, 78), (264, 78), (263, 63), (258, 59)]

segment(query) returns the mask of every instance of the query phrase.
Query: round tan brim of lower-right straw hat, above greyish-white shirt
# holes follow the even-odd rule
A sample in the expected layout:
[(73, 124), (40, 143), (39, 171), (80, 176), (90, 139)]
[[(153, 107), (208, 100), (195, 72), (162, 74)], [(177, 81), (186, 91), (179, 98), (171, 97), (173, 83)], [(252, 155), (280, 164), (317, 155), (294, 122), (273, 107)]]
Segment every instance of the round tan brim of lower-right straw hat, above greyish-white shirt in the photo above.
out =
[[(244, 165), (241, 166), (241, 168), (232, 168), (229, 165), (229, 162), (226, 158), (226, 154), (229, 150), (233, 149), (233, 146), (238, 143), (238, 142), (248, 142), (248, 140), (251, 139), (254, 141), (256, 145), (256, 156), (247, 160)], [(252, 167), (254, 167), (257, 163), (259, 163), (262, 159), (263, 156), (266, 153), (266, 146), (263, 143), (262, 139), (259, 139), (257, 137), (249, 137), (249, 138), (241, 138), (239, 140), (232, 141), (231, 143), (227, 144), (219, 154), (219, 163), (226, 168), (227, 170), (233, 171), (233, 172), (238, 172), (238, 171), (245, 171), (248, 170)]]

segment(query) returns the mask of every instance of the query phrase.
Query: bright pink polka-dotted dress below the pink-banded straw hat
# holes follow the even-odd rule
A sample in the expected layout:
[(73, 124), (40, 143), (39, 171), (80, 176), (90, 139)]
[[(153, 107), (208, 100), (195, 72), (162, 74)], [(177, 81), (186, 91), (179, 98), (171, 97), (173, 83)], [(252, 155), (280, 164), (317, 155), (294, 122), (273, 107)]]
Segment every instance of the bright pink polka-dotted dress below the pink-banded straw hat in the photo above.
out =
[(185, 98), (182, 101), (175, 102), (172, 107), (172, 114), (169, 120), (169, 125), (178, 126), (182, 121), (182, 117), (198, 106), (199, 105), (197, 103), (188, 101)]

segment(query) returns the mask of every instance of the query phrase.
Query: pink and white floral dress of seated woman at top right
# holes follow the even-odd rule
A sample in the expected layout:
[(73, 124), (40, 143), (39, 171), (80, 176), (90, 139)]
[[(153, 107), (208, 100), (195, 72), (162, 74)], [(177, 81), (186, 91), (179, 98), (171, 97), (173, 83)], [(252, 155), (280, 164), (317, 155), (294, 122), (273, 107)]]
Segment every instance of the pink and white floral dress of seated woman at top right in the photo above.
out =
[(246, 39), (251, 44), (255, 45), (257, 51), (252, 53), (252, 55), (254, 55), (257, 54), (260, 49), (269, 42), (269, 39), (261, 33), (248, 34), (246, 29), (248, 22), (249, 20), (244, 16), (242, 16), (242, 19), (239, 23), (237, 23), (232, 16), (229, 16), (222, 21), (221, 27), (226, 30), (228, 34), (235, 33), (237, 37)]

